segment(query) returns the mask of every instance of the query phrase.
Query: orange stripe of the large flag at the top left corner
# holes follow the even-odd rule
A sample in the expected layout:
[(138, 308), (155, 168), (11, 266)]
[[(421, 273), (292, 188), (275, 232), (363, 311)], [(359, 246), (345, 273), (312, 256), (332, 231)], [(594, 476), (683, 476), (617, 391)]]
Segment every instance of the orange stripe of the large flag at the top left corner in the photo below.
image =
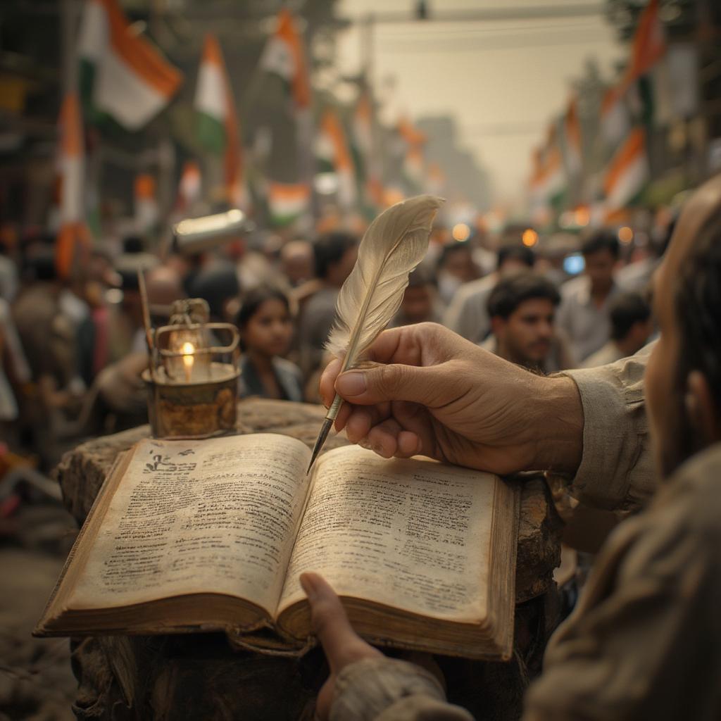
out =
[(110, 44), (125, 64), (156, 92), (172, 97), (182, 82), (182, 74), (160, 56), (144, 37), (132, 35), (128, 21), (115, 0), (102, 0), (110, 25)]

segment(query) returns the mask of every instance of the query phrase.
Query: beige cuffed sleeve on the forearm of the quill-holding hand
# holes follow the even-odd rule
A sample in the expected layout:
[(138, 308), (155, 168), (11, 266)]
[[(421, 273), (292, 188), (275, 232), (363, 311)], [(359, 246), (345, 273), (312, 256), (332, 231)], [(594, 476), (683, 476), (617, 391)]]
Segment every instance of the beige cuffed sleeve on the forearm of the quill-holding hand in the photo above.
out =
[(643, 388), (651, 348), (609, 366), (564, 373), (583, 404), (583, 457), (569, 490), (594, 508), (637, 510), (655, 492)]

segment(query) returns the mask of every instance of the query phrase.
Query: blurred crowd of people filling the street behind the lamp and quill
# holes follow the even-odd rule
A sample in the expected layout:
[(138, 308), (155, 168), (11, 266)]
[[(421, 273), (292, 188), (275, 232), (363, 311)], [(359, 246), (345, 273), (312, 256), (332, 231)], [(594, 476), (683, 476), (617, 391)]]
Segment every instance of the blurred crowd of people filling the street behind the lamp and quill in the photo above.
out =
[[(543, 373), (641, 348), (653, 335), (649, 281), (663, 242), (622, 254), (615, 231), (586, 234), (565, 251), (583, 257), (585, 269), (574, 276), (562, 256), (544, 252), (544, 241), (536, 252), (520, 232), (506, 233), (495, 239), (494, 255), (487, 237), (456, 242), (436, 227), (392, 325), (440, 322)], [(82, 435), (145, 420), (138, 269), (154, 325), (185, 297), (205, 299), (211, 320), (236, 324), (241, 397), (319, 401), (324, 343), (360, 236), (268, 233), (164, 257), (149, 238), (126, 236), (92, 249), (66, 279), (56, 274), (53, 242), (27, 232), (0, 243), (0, 423), (11, 447), (48, 467)]]

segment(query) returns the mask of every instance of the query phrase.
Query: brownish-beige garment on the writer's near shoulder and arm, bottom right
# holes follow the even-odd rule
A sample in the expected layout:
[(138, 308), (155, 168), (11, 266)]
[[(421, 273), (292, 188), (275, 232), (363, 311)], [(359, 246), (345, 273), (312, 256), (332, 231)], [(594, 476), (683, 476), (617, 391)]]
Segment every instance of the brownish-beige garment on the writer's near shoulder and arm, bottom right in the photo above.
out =
[(523, 721), (719, 717), (718, 470), (704, 497), (674, 479), (611, 534), (547, 646)]

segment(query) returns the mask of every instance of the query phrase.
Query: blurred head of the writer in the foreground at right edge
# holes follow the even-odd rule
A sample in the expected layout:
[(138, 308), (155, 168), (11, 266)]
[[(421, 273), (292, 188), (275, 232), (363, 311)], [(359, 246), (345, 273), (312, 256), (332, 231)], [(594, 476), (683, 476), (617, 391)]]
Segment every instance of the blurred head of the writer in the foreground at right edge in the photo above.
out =
[(660, 339), (645, 375), (660, 472), (721, 440), (721, 175), (684, 206), (654, 278)]

